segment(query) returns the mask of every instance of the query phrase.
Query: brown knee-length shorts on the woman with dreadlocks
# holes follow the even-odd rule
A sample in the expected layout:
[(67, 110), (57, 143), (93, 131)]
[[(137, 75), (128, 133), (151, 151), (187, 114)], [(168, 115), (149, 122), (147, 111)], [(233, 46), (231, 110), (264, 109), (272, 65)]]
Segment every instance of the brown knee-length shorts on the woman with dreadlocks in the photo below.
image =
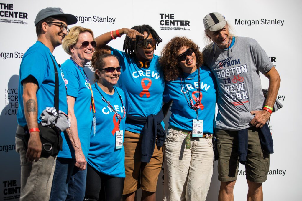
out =
[(156, 191), (158, 175), (162, 168), (162, 147), (155, 145), (150, 162), (141, 162), (142, 137), (143, 135), (140, 133), (132, 133), (128, 130), (125, 131), (124, 149), (126, 177), (123, 195), (133, 193), (140, 187), (145, 191)]

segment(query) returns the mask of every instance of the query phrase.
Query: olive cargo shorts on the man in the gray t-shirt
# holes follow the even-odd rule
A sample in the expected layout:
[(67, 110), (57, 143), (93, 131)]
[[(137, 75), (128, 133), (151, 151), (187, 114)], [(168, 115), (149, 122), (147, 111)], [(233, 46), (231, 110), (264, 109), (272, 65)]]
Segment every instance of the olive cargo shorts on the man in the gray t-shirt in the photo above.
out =
[[(267, 180), (269, 154), (260, 145), (259, 129), (248, 131), (248, 154), (246, 157), (246, 179), (255, 183)], [(218, 180), (234, 181), (238, 174), (238, 131), (215, 129), (218, 148)]]

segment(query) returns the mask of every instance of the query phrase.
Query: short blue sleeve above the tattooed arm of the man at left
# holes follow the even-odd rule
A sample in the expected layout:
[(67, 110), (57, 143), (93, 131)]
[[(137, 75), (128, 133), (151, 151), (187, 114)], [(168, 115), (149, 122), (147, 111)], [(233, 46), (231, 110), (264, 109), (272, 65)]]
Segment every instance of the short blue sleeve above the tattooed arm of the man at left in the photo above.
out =
[(21, 64), (21, 84), (23, 80), (28, 76), (33, 76), (39, 85), (43, 83), (45, 79), (45, 73), (47, 73), (48, 62), (40, 52), (32, 52), (23, 59)]

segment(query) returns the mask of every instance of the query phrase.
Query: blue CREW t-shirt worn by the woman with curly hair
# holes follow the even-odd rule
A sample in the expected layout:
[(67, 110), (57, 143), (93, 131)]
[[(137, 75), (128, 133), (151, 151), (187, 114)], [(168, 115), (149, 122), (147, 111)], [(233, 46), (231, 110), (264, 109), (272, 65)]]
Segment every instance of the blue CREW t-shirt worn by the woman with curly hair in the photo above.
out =
[[(193, 99), (194, 104), (198, 97), (198, 70), (191, 74), (184, 74), (182, 80), (184, 92), (189, 101), (188, 95)], [(201, 101), (198, 109), (198, 119), (203, 120), (203, 132), (213, 133), (216, 107), (216, 86), (215, 79), (210, 69), (206, 66), (200, 67), (200, 88)], [(185, 84), (184, 84), (185, 82)], [(165, 82), (163, 101), (173, 100), (169, 119), (171, 126), (182, 130), (192, 130), (193, 119), (197, 118), (196, 111), (191, 109), (181, 90), (181, 80), (178, 77), (174, 81)]]

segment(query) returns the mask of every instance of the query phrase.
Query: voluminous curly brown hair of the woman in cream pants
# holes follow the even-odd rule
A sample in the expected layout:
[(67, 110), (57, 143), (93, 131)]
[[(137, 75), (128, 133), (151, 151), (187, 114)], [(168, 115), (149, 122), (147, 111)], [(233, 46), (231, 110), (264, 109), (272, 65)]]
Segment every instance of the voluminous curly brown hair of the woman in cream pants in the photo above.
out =
[(162, 56), (159, 59), (166, 80), (175, 80), (182, 73), (182, 69), (177, 60), (177, 53), (184, 46), (194, 50), (197, 68), (203, 64), (203, 55), (199, 51), (199, 47), (196, 43), (186, 37), (174, 37), (162, 49)]

